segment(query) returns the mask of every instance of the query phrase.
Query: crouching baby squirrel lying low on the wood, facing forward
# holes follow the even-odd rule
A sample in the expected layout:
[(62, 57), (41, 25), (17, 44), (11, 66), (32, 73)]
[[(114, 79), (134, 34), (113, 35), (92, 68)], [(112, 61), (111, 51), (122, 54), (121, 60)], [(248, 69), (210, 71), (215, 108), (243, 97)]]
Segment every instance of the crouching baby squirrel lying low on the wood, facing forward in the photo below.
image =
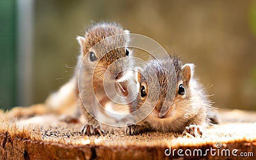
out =
[[(175, 70), (169, 69), (172, 68), (172, 63)], [(166, 74), (164, 74), (163, 68), (167, 68)], [(137, 72), (140, 90), (138, 91), (137, 99), (131, 103), (131, 112), (136, 111), (143, 105), (146, 105), (146, 109), (152, 108), (150, 106), (153, 103), (152, 101), (156, 101), (156, 106), (153, 106), (154, 109), (147, 118), (138, 124), (129, 124), (127, 127), (128, 134), (140, 134), (146, 131), (184, 131), (189, 132), (193, 136), (196, 136), (195, 134), (201, 136), (202, 132), (198, 125), (205, 126), (211, 120), (212, 123), (216, 123), (213, 121), (213, 116), (211, 115), (211, 102), (205, 96), (202, 86), (193, 76), (193, 64), (184, 64), (176, 57), (168, 60), (152, 60), (148, 62), (148, 65), (141, 72)], [(146, 81), (146, 79), (152, 79), (153, 74), (157, 76), (159, 88), (157, 88), (156, 84)], [(176, 82), (173, 82), (171, 78), (173, 74), (177, 76)], [(169, 77), (168, 80), (166, 77)], [(175, 86), (177, 89), (173, 102), (170, 97), (166, 97), (168, 83), (176, 83)], [(148, 94), (148, 90), (152, 90), (152, 95)], [(157, 90), (159, 90), (159, 96), (156, 95)], [(145, 103), (146, 99), (151, 100)], [(164, 100), (166, 100), (167, 104), (171, 104), (171, 106), (164, 116), (160, 116), (159, 113), (163, 108)], [(191, 128), (194, 131), (191, 131)]]

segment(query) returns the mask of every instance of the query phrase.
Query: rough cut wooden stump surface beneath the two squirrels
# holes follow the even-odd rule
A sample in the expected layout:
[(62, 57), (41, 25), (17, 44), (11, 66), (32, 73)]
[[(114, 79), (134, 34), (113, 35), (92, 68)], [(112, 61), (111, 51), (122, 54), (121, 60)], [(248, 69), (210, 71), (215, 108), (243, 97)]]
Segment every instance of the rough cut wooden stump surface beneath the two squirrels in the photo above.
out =
[[(177, 150), (182, 149), (184, 154), (186, 149), (190, 149), (192, 153), (200, 149), (205, 154), (211, 148), (216, 149), (216, 156), (212, 156), (210, 152), (205, 156), (197, 156), (195, 152), (196, 156), (192, 158), (241, 159), (238, 156), (241, 152), (253, 154), (253, 157), (247, 156), (244, 159), (256, 158), (254, 112), (221, 110), (221, 124), (205, 129), (202, 138), (158, 132), (139, 136), (127, 136), (125, 132), (106, 136), (83, 136), (79, 132), (82, 124), (60, 122), (58, 115), (31, 114), (30, 118), (22, 118), (24, 115), (18, 114), (19, 119), (10, 115), (13, 115), (12, 111), (1, 115), (0, 159), (188, 159), (191, 157), (178, 156)], [(172, 152), (177, 149), (174, 156), (164, 154), (165, 151), (168, 154), (170, 147)], [(230, 150), (230, 156), (225, 156), (224, 152), (224, 156), (221, 156), (223, 149)], [(234, 149), (238, 150), (237, 156), (232, 156)]]

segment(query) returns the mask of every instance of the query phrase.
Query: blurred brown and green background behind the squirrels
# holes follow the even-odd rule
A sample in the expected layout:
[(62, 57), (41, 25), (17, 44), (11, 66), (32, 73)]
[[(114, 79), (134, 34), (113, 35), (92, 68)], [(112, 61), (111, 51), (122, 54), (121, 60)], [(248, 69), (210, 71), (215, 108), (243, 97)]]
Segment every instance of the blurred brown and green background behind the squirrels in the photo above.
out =
[(184, 61), (217, 108), (256, 110), (256, 1), (3, 0), (0, 107), (44, 102), (72, 77), (77, 35), (115, 21)]

